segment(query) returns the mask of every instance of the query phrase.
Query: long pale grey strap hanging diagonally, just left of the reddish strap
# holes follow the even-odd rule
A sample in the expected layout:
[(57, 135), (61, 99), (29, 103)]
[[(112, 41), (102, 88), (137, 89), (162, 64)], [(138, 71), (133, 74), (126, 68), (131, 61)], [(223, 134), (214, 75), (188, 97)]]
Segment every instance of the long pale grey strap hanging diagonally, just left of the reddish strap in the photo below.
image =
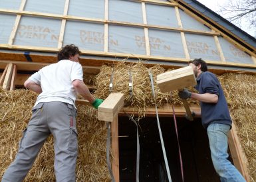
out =
[[(152, 95), (153, 95), (154, 102), (155, 102), (155, 105), (156, 105), (156, 96), (155, 96), (155, 90), (154, 90), (154, 80), (153, 80), (152, 73), (150, 73), (149, 70), (148, 70), (148, 73), (150, 75), (150, 82), (151, 82), (151, 87), (152, 87)], [(162, 151), (163, 151), (163, 155), (164, 155), (164, 163), (166, 164), (166, 172), (167, 172), (167, 175), (168, 175), (168, 180), (169, 180), (169, 182), (172, 182), (171, 173), (170, 173), (170, 169), (169, 169), (169, 165), (168, 165), (168, 159), (166, 157), (166, 148), (164, 147), (164, 139), (163, 139), (163, 136), (162, 136), (162, 130), (161, 130), (161, 126), (160, 126), (157, 105), (156, 105), (156, 119), (158, 120), (158, 130), (159, 130), (159, 135), (160, 135)]]

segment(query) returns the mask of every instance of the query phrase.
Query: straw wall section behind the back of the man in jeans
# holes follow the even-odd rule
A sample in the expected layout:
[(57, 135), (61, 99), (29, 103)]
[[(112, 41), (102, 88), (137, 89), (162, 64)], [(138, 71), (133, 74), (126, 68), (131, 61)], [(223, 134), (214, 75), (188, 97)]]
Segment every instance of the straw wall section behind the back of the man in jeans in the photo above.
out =
[(219, 79), (247, 157), (251, 181), (256, 181), (256, 75), (226, 73)]

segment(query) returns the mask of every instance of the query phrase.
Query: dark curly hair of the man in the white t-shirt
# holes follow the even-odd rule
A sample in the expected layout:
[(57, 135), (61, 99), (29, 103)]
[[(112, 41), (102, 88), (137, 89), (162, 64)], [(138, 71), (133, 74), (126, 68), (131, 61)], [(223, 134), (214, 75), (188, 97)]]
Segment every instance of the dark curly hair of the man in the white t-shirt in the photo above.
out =
[(61, 60), (68, 60), (69, 56), (74, 56), (76, 54), (81, 54), (78, 47), (74, 44), (66, 45), (58, 52), (58, 62)]

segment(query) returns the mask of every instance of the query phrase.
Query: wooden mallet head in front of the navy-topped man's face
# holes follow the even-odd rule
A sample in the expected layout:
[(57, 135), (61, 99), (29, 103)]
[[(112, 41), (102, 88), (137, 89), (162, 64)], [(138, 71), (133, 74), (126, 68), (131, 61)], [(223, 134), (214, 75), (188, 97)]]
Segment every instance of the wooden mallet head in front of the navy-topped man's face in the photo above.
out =
[(195, 75), (191, 66), (175, 69), (157, 76), (156, 83), (162, 93), (184, 89), (196, 84)]

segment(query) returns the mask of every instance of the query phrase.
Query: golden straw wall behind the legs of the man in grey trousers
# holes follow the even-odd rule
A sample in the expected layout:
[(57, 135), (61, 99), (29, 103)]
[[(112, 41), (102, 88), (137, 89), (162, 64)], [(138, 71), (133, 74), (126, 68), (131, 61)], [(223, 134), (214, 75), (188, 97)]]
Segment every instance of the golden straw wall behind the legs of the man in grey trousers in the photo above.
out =
[[(37, 94), (19, 89), (0, 88), (0, 179), (19, 148), (22, 132), (31, 118), (31, 109)], [(96, 110), (78, 106), (77, 181), (110, 181), (106, 166), (106, 126), (96, 118)], [(50, 136), (25, 181), (55, 181), (53, 169), (53, 136)]]

